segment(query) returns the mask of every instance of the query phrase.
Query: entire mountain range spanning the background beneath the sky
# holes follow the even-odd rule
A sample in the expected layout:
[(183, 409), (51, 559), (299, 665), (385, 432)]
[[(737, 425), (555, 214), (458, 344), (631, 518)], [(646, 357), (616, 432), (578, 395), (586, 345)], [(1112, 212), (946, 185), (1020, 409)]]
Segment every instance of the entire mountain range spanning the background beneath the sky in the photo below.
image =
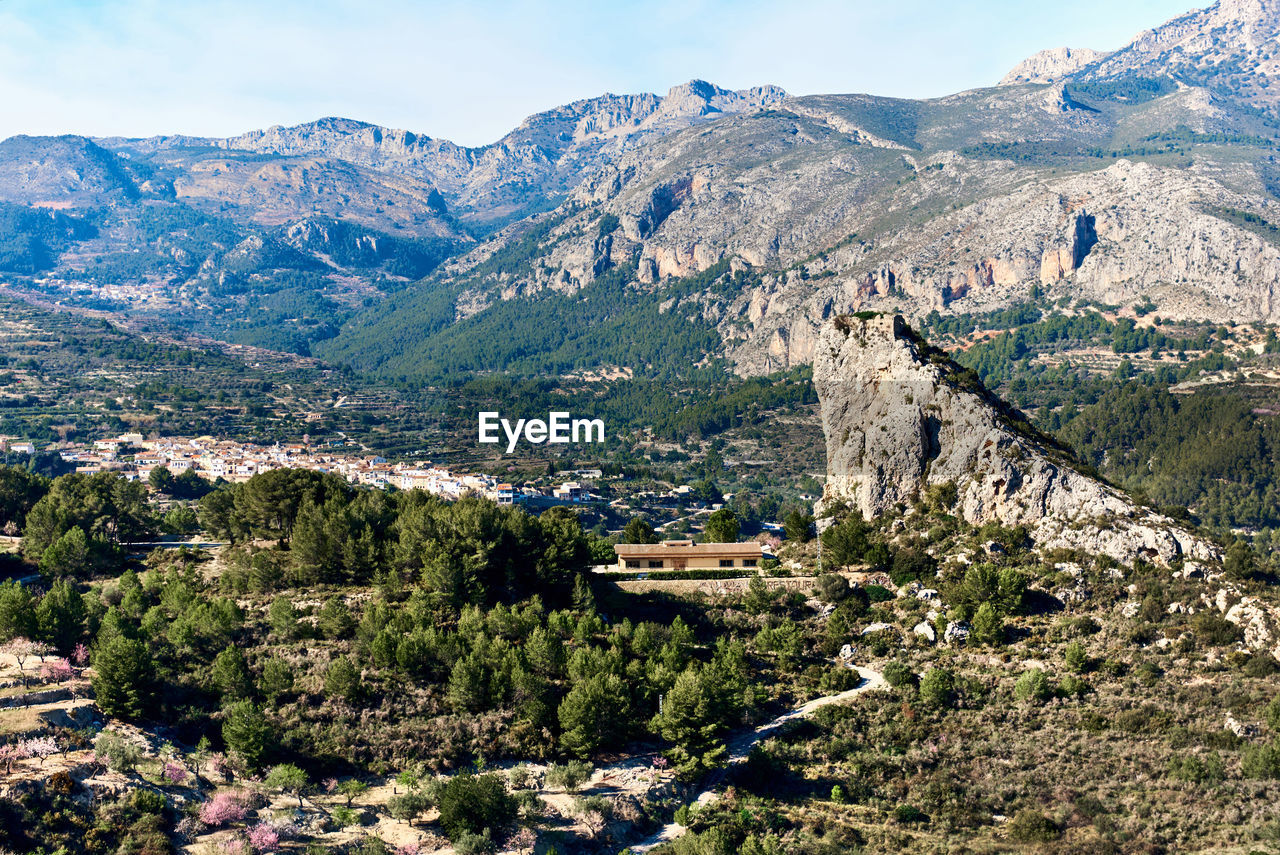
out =
[(940, 99), (692, 81), (477, 148), (348, 119), (15, 137), (0, 270), (397, 378), (767, 374), (864, 308), (1276, 323), (1277, 33), (1276, 0), (1220, 0)]

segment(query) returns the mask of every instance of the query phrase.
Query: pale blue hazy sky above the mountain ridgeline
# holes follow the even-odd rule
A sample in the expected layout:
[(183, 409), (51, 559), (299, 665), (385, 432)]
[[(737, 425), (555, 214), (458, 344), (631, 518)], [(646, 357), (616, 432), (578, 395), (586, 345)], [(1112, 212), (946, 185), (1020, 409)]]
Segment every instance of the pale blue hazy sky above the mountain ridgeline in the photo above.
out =
[(342, 115), (492, 142), (602, 92), (937, 96), (1203, 0), (0, 0), (0, 137), (229, 136)]

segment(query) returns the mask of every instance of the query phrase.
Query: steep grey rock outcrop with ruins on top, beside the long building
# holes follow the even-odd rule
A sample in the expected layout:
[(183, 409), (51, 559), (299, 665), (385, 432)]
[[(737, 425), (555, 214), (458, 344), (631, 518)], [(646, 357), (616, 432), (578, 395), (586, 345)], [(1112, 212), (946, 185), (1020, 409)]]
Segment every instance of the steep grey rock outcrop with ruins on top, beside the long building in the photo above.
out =
[(970, 523), (1024, 525), (1041, 548), (1116, 561), (1212, 559), (1216, 549), (1172, 520), (1082, 474), (970, 374), (924, 344), (897, 315), (840, 316), (814, 355), (827, 436), (823, 506), (870, 518), (952, 484)]

